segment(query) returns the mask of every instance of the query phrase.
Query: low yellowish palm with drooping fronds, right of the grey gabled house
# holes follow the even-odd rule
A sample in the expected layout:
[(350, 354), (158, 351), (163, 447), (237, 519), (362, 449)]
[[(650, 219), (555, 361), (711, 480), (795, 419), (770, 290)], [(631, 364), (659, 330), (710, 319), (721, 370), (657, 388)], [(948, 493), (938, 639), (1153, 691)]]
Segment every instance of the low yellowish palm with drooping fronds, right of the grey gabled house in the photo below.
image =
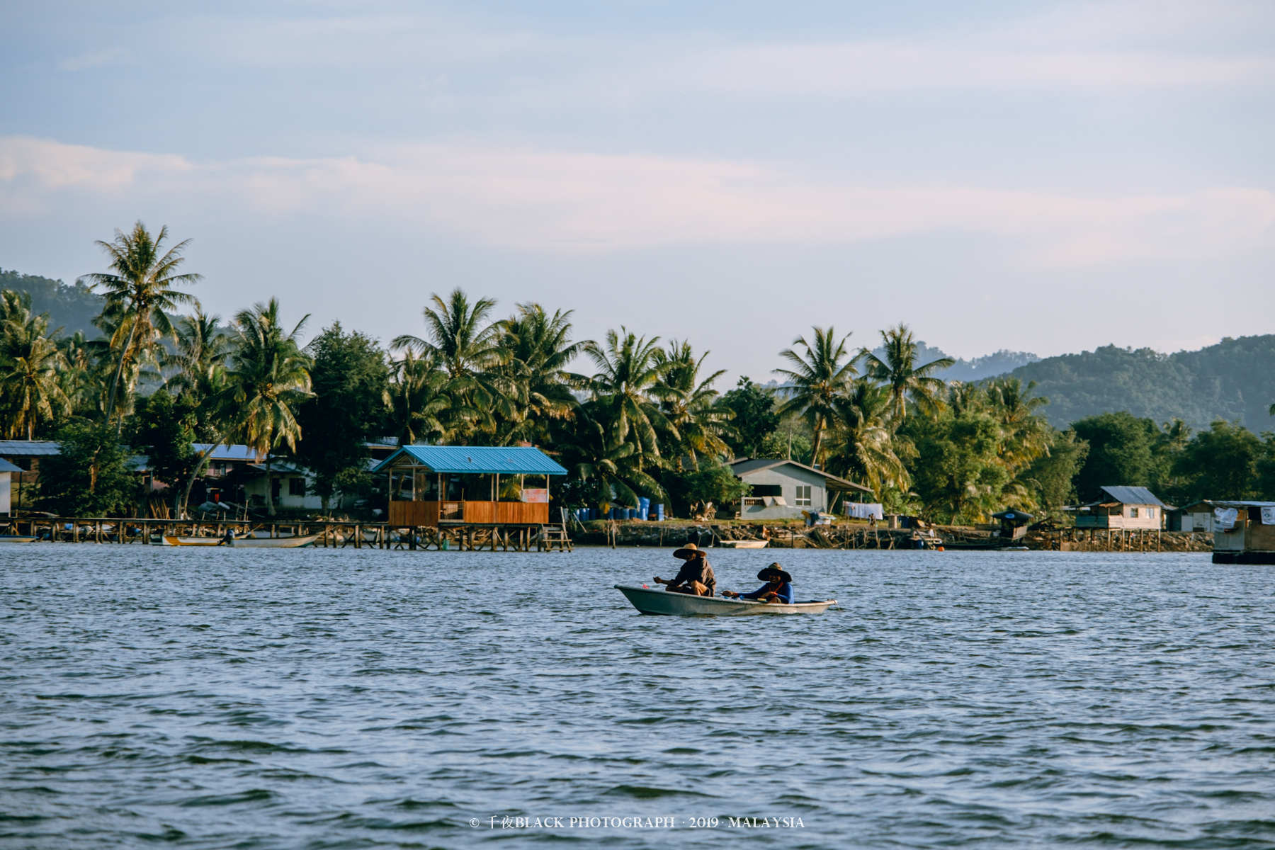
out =
[(910, 484), (903, 459), (914, 450), (890, 428), (891, 409), (890, 393), (861, 378), (833, 399), (827, 423), (827, 472), (867, 484), (877, 500), (889, 487), (907, 492)]

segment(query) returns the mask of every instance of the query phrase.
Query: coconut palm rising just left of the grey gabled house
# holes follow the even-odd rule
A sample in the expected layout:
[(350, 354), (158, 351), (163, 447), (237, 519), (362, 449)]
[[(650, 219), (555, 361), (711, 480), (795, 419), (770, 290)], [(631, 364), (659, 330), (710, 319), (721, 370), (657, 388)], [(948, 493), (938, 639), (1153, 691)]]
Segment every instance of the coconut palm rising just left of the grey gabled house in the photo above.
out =
[(681, 451), (691, 461), (691, 469), (699, 468), (699, 454), (728, 455), (731, 447), (722, 438), (733, 436), (728, 424), (734, 412), (720, 405), (715, 407), (718, 391), (713, 384), (725, 375), (718, 370), (700, 380), (700, 368), (709, 352), (696, 359), (690, 343), (669, 343), (668, 349), (655, 350), (655, 362), (667, 366), (663, 377), (657, 382), (662, 401), (659, 409), (682, 435)]

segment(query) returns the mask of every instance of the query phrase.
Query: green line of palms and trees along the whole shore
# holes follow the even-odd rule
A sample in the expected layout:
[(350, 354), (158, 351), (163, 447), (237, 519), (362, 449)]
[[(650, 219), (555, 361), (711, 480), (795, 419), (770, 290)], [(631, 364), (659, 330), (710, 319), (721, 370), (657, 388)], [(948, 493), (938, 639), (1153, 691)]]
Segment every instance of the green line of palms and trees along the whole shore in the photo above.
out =
[[(97, 243), (108, 271), (78, 283), (103, 297), (92, 339), (50, 328), (29, 294), (0, 292), (0, 426), (62, 443), (41, 465), (46, 510), (125, 510), (139, 498), (129, 457), (142, 454), (182, 515), (226, 443), (258, 450), (268, 468), (309, 468), (326, 510), (372, 494), (367, 442), (385, 437), (542, 446), (570, 473), (558, 503), (648, 497), (680, 516), (747, 494), (725, 465), (745, 456), (817, 466), (866, 484), (887, 511), (937, 522), (1007, 507), (1061, 519), (1104, 484), (1178, 502), (1275, 498), (1271, 433), (1215, 422), (1192, 435), (1128, 413), (1054, 428), (1033, 382), (943, 381), (952, 361), (921, 362), (903, 324), (873, 349), (813, 328), (779, 353), (778, 386), (743, 377), (723, 393), (724, 371), (690, 342), (622, 326), (576, 340), (569, 310), (528, 302), (501, 319), (493, 299), (459, 288), (430, 299), (419, 335), (388, 348), (339, 322), (302, 344), (309, 316), (289, 326), (273, 298), (224, 322), (204, 312), (191, 292), (200, 275), (182, 270), (187, 242), (167, 241), (167, 228), (138, 222)], [(516, 487), (506, 480), (501, 496)], [(273, 515), (269, 487), (265, 500)]]

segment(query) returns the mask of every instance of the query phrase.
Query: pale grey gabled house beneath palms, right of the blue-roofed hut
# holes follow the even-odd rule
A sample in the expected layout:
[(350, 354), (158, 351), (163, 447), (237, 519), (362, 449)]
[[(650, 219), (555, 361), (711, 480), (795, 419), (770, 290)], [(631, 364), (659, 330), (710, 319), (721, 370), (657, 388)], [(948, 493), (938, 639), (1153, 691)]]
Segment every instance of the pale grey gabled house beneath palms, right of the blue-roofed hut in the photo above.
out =
[(736, 505), (742, 520), (801, 519), (802, 511), (830, 511), (841, 494), (872, 492), (796, 460), (747, 457), (731, 464), (731, 472), (752, 486)]

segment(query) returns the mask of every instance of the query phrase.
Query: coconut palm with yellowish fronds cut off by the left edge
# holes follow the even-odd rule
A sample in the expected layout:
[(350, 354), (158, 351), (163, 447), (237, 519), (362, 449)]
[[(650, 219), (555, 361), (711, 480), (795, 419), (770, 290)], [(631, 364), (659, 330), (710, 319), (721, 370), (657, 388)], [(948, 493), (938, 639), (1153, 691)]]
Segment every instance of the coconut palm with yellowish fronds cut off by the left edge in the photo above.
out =
[(31, 313), (29, 293), (0, 294), (0, 398), (8, 408), (9, 437), (26, 432), (27, 440), (34, 440), (40, 419), (70, 413), (60, 380), (65, 366), (66, 358), (48, 333), (48, 313)]

